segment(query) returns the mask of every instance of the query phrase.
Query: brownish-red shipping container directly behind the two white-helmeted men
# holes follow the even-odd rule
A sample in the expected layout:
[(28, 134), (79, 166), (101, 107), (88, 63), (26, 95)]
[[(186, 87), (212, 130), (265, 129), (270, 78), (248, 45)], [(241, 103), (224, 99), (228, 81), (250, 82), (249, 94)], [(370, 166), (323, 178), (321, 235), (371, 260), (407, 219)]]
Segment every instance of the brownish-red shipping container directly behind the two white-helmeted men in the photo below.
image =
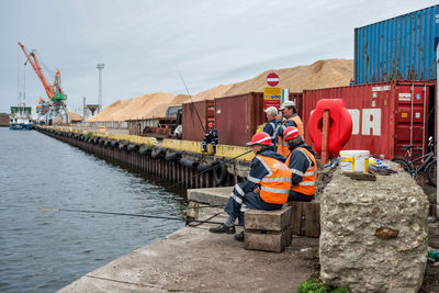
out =
[[(302, 93), (290, 92), (302, 114)], [(256, 128), (266, 123), (263, 92), (249, 92), (215, 99), (215, 125), (219, 144), (245, 146), (250, 142)]]

